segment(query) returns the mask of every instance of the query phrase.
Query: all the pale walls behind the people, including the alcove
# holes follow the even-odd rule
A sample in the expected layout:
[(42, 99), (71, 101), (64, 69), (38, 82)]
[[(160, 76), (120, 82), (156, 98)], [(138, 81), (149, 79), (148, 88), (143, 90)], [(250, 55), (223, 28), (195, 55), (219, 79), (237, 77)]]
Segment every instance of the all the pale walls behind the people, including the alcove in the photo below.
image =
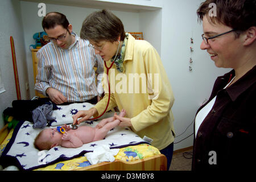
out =
[[(0, 42), (0, 51), (2, 51), (0, 53), (5, 58), (4, 62), (1, 60), (0, 69), (5, 89), (9, 91), (0, 94), (2, 110), (10, 106), (11, 101), (16, 99), (10, 50), (5, 47), (9, 44), (7, 38), (11, 34), (18, 35), (16, 38), (18, 46), (15, 46), (19, 49), (16, 52), (20, 60), (18, 71), (20, 82), (22, 82), (20, 84), (22, 85), (22, 97), (25, 99), (30, 94), (30, 98), (32, 98), (35, 95), (32, 58), (28, 47), (30, 44), (35, 44), (32, 35), (43, 30), (42, 17), (38, 17), (39, 2), (36, 0), (35, 2), (18, 0), (0, 2), (0, 15), (3, 17), (1, 25), (6, 25), (1, 26), (0, 31), (0, 39), (3, 39), (3, 43)], [(58, 3), (57, 5), (53, 1), (44, 2), (47, 6), (46, 13), (59, 11), (67, 15), (69, 22), (73, 25), (73, 30), (78, 34), (80, 34), (81, 23), (86, 15), (102, 8), (98, 6), (99, 3), (104, 3), (106, 8), (112, 10), (122, 20), (126, 31), (143, 31), (144, 38), (159, 52), (174, 91), (175, 103), (172, 111), (177, 135), (183, 133), (193, 121), (196, 110), (209, 97), (216, 77), (229, 71), (229, 69), (216, 68), (207, 52), (200, 49), (202, 28), (201, 24), (197, 23), (196, 10), (203, 0), (88, 1), (97, 2), (95, 3), (97, 7), (93, 3), (88, 6), (80, 6), (77, 4), (80, 2), (78, 0), (54, 1)], [(190, 43), (191, 37), (194, 44)], [(191, 46), (194, 49), (193, 53), (189, 50)], [(192, 64), (189, 63), (189, 57), (193, 59)], [(189, 71), (189, 65), (192, 66), (192, 71)], [(23, 86), (26, 81), (29, 81), (30, 84), (30, 93), (28, 94)], [(0, 126), (3, 126), (2, 121), (0, 121)], [(192, 133), (193, 125), (188, 127), (183, 135), (175, 138), (175, 143)], [(189, 147), (192, 144), (193, 136), (175, 144), (174, 149)]]

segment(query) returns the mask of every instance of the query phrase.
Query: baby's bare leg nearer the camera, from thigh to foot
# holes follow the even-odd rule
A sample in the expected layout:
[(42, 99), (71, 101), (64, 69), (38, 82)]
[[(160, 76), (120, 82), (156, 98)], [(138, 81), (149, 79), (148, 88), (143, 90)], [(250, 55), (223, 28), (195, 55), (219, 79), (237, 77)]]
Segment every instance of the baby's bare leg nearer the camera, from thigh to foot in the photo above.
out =
[[(126, 114), (126, 111), (122, 110), (121, 113), (119, 114), (119, 116), (124, 117), (125, 114)], [(95, 138), (93, 140), (97, 141), (97, 140), (104, 139), (106, 137), (106, 134), (108, 134), (109, 130), (111, 130), (114, 127), (118, 126), (119, 123), (120, 123), (120, 120), (119, 119), (115, 119), (112, 122), (106, 123), (106, 125), (104, 125), (100, 129), (96, 128), (96, 134), (95, 134)]]

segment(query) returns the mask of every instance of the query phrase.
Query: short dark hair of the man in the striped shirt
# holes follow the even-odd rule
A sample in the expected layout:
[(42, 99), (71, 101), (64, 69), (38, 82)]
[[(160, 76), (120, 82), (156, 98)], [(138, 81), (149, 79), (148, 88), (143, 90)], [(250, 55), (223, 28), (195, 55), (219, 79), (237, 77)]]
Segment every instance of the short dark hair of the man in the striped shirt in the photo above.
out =
[(69, 22), (67, 17), (59, 12), (51, 12), (44, 16), (42, 20), (42, 27), (46, 29), (54, 28), (57, 25), (63, 26), (63, 28), (67, 29)]

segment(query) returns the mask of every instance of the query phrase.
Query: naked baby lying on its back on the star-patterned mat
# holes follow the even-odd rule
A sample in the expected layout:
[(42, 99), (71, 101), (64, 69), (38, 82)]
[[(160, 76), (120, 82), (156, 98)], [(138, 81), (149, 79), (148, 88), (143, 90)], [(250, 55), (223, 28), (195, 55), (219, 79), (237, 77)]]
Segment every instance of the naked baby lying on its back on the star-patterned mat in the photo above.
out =
[[(120, 117), (124, 117), (125, 115), (125, 110), (122, 110), (119, 114)], [(67, 148), (81, 147), (82, 144), (104, 139), (108, 131), (118, 126), (119, 123), (119, 119), (110, 117), (102, 119), (96, 127), (79, 126), (76, 130), (71, 130), (69, 126), (64, 125), (64, 134), (59, 133), (56, 128), (44, 129), (35, 138), (34, 145), (38, 150), (49, 150), (55, 146)]]

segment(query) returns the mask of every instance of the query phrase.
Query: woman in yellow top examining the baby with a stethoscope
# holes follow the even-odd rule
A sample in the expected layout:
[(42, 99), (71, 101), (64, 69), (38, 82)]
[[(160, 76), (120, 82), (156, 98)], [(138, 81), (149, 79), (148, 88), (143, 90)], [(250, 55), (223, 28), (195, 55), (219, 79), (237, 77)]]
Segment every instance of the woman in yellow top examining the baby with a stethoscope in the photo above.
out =
[[(108, 110), (116, 106), (125, 109), (126, 117), (118, 118), (119, 126), (129, 126), (139, 137), (152, 140), (152, 146), (166, 155), (168, 169), (174, 148), (174, 96), (158, 52), (145, 40), (135, 40), (125, 33), (121, 20), (108, 10), (90, 14), (82, 23), (80, 36), (89, 40), (107, 67), (114, 61), (108, 75)], [(93, 108), (74, 115), (73, 124), (105, 110), (109, 97), (106, 74), (102, 84), (104, 98)]]

